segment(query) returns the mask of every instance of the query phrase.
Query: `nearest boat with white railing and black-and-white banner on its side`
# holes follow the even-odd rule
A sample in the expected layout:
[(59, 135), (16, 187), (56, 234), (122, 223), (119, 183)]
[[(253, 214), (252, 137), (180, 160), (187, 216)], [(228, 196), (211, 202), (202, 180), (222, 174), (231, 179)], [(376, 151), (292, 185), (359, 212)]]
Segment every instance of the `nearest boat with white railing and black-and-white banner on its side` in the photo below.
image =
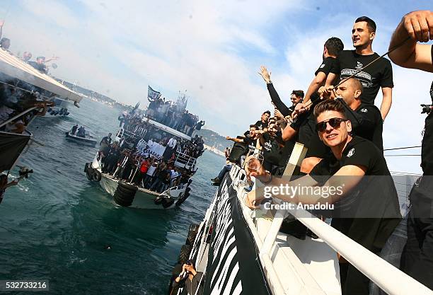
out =
[[(285, 175), (293, 175), (303, 155), (304, 146), (296, 144)], [(408, 187), (420, 175), (392, 176), (403, 210), (410, 192)], [(195, 270), (203, 274), (201, 294), (340, 295), (337, 253), (386, 294), (433, 294), (303, 208), (284, 207), (272, 213), (266, 209), (250, 210), (245, 204), (250, 189), (245, 170), (233, 165), (221, 181), (203, 221), (190, 226), (175, 270), (181, 269), (185, 261), (192, 261)], [(278, 204), (279, 199), (274, 201)], [(279, 229), (286, 217), (300, 221), (317, 237), (306, 236), (303, 240), (282, 233)], [(185, 294), (184, 289), (172, 284), (173, 280), (169, 294)]]

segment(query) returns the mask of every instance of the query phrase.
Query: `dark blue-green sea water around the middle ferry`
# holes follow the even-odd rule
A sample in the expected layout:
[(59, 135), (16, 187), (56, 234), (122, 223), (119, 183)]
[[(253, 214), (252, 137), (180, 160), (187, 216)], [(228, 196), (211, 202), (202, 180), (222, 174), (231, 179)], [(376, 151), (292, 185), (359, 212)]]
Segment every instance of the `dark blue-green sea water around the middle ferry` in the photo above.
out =
[(91, 100), (80, 105), (68, 117), (38, 117), (28, 128), (39, 144), (20, 164), (34, 173), (8, 188), (0, 204), (0, 279), (45, 279), (46, 294), (168, 294), (180, 247), (209, 207), (216, 191), (209, 179), (224, 158), (204, 152), (192, 193), (178, 209), (116, 207), (83, 173), (97, 149), (67, 141), (65, 132), (79, 124), (100, 140), (117, 132), (120, 111)]

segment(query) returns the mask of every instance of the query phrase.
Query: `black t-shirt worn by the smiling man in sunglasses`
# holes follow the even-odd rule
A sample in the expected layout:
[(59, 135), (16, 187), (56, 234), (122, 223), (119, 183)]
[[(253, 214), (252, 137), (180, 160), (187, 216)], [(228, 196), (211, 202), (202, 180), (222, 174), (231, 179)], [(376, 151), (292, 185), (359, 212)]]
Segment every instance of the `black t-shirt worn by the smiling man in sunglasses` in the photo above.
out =
[[(352, 137), (338, 161), (325, 159), (310, 175), (333, 175), (343, 166), (362, 166), (365, 177), (335, 203), (332, 225), (357, 243), (379, 251), (400, 222), (398, 195), (382, 152), (369, 140)], [(365, 218), (374, 216), (374, 218)]]

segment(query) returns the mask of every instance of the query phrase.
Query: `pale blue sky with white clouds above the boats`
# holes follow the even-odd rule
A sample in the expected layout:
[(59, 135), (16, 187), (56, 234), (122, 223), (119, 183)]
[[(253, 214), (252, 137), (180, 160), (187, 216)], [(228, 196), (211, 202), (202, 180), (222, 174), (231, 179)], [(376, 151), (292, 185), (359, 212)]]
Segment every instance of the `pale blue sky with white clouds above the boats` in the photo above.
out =
[[(359, 16), (377, 24), (373, 50), (387, 51), (405, 13), (431, 1), (98, 1), (0, 0), (4, 37), (14, 54), (59, 56), (51, 74), (122, 103), (146, 105), (147, 86), (175, 100), (186, 91), (204, 128), (235, 137), (272, 110), (260, 65), (282, 100), (306, 91), (321, 64), (323, 43), (340, 37), (352, 50)], [(419, 146), (432, 74), (393, 64), (393, 106), (385, 149)], [(381, 103), (381, 93), (376, 105)], [(420, 154), (405, 149), (387, 154)], [(387, 157), (393, 171), (420, 173), (420, 157)]]

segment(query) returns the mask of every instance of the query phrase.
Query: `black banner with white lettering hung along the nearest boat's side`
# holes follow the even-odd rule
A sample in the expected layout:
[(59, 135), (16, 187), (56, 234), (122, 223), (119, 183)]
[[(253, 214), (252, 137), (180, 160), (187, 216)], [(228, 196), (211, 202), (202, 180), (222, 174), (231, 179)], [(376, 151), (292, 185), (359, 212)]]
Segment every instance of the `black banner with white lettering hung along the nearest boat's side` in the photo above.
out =
[(214, 208), (203, 294), (270, 295), (253, 236), (231, 183), (227, 173)]

